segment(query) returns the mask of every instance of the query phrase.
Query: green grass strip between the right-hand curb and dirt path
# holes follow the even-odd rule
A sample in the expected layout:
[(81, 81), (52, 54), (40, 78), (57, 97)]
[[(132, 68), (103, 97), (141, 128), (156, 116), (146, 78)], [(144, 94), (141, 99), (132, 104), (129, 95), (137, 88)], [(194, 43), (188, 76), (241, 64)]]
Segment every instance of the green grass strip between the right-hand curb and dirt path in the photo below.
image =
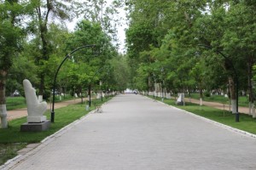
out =
[[(157, 99), (160, 100), (160, 98)], [(256, 119), (253, 119), (252, 116), (240, 114), (240, 122), (236, 122), (235, 115), (232, 114), (230, 111), (223, 111), (206, 105), (200, 106), (189, 102), (187, 102), (184, 106), (176, 105), (175, 102), (175, 99), (164, 100), (164, 103), (166, 103), (167, 105), (172, 105), (184, 111), (192, 112), (195, 115), (203, 116), (213, 121), (228, 125), (230, 127), (235, 127), (248, 133), (256, 134)]]

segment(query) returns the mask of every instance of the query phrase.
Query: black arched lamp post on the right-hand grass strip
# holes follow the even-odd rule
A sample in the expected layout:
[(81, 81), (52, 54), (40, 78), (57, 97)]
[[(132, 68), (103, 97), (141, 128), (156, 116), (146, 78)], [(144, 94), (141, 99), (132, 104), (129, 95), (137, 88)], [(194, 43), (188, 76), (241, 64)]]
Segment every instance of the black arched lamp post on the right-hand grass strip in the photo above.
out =
[[(204, 44), (199, 44), (198, 46), (200, 47), (204, 47), (204, 48), (209, 48), (212, 49), (212, 46), (208, 46), (208, 45), (204, 45)], [(225, 56), (223, 53), (221, 53), (218, 50), (215, 50), (218, 54), (220, 54), (221, 56), (224, 57), (224, 59), (227, 59), (230, 62), (230, 65), (234, 71), (235, 74), (235, 83), (236, 83), (236, 122), (239, 122), (239, 112), (238, 112), (238, 76), (237, 76), (237, 72), (236, 72), (236, 68), (233, 65), (233, 62), (227, 57)]]

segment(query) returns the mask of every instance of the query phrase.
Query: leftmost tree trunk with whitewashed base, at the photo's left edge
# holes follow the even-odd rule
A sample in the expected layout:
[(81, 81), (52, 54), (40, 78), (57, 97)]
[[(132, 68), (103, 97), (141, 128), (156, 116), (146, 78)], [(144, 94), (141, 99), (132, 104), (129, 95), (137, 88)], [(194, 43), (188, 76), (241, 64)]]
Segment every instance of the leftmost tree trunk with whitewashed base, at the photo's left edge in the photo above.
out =
[(1, 117), (2, 128), (8, 127), (6, 99), (5, 99), (6, 76), (7, 76), (7, 71), (0, 71), (0, 117)]

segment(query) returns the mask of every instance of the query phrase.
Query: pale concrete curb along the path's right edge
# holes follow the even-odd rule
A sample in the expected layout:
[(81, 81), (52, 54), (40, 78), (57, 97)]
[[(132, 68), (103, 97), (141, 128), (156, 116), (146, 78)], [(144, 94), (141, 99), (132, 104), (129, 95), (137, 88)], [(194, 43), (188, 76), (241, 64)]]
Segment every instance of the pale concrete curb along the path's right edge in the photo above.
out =
[[(145, 96), (145, 97), (147, 97), (147, 96)], [(147, 97), (147, 98), (148, 98), (148, 97)], [(148, 98), (148, 99), (151, 99), (151, 98)], [(154, 99), (153, 99), (153, 100), (154, 100)], [(162, 104), (162, 105), (167, 105), (166, 103), (163, 103), (163, 102), (161, 102), (161, 101), (159, 101), (159, 100), (155, 100), (155, 101), (159, 102), (159, 103)], [(175, 107), (175, 106), (172, 106), (172, 105), (167, 105), (167, 106), (172, 107), (173, 109), (176, 109), (177, 111), (182, 111), (182, 112), (185, 113), (185, 114), (189, 114), (190, 116), (194, 116), (194, 117), (196, 117), (196, 118), (199, 118), (199, 119), (201, 119), (201, 120), (203, 120), (203, 121), (205, 121), (205, 122), (210, 122), (210, 123), (212, 123), (213, 125), (216, 125), (216, 126), (218, 126), (218, 127), (223, 127), (224, 129), (227, 129), (227, 130), (229, 130), (229, 131), (231, 131), (231, 132), (239, 133), (239, 134), (241, 134), (241, 135), (243, 135), (243, 136), (246, 136), (246, 137), (248, 137), (248, 138), (256, 139), (256, 135), (253, 134), (253, 133), (248, 133), (248, 132), (243, 131), (243, 130), (240, 130), (240, 129), (238, 129), (238, 128), (230, 127), (230, 126), (224, 125), (224, 124), (222, 124), (222, 123), (220, 123), (220, 122), (212, 121), (212, 120), (210, 120), (210, 119), (207, 119), (206, 117), (195, 115), (195, 114), (192, 113), (192, 112), (184, 111), (184, 110), (179, 109), (179, 108), (177, 108), (177, 107)]]

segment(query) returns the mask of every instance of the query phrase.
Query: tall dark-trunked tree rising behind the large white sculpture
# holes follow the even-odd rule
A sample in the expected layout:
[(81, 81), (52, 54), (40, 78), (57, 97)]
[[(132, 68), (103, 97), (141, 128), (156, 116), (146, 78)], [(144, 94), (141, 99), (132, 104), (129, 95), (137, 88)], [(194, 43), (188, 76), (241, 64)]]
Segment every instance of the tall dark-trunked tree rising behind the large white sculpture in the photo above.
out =
[(33, 13), (30, 23), (30, 30), (33, 31), (34, 37), (39, 37), (38, 51), (35, 56), (35, 63), (38, 65), (39, 94), (44, 94), (45, 77), (48, 73), (45, 70), (45, 62), (49, 60), (50, 54), (53, 54), (53, 46), (49, 40), (49, 26), (54, 20), (61, 22), (71, 20), (73, 17), (73, 1), (71, 0), (38, 0), (30, 1)]

